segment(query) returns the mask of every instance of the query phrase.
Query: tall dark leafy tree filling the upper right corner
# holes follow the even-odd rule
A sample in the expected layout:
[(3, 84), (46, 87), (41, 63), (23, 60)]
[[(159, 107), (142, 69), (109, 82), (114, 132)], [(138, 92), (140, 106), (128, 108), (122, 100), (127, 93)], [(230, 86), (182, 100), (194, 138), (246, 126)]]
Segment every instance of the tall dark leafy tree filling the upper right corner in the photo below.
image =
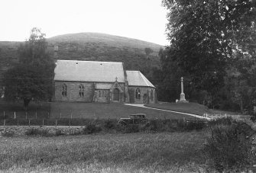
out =
[[(246, 46), (255, 24), (255, 0), (163, 0), (172, 56), (196, 90), (215, 95), (224, 85), (233, 50)], [(234, 45), (236, 48), (234, 48)]]

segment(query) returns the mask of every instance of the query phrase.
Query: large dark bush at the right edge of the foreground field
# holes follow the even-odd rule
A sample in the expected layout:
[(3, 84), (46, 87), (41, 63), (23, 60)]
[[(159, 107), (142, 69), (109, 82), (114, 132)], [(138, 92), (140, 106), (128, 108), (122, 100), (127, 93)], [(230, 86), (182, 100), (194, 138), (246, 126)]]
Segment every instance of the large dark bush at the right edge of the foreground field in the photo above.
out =
[(241, 171), (254, 160), (248, 139), (252, 130), (243, 131), (245, 126), (248, 127), (245, 123), (232, 123), (212, 127), (205, 149), (212, 163), (210, 165), (217, 171)]

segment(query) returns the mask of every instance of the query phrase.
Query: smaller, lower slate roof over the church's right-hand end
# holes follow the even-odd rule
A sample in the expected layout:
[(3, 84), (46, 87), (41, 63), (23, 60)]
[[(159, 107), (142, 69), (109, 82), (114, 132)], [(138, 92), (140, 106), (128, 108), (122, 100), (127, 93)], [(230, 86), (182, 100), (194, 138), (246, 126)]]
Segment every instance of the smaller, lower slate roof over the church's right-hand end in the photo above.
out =
[(140, 71), (126, 71), (129, 86), (154, 87)]

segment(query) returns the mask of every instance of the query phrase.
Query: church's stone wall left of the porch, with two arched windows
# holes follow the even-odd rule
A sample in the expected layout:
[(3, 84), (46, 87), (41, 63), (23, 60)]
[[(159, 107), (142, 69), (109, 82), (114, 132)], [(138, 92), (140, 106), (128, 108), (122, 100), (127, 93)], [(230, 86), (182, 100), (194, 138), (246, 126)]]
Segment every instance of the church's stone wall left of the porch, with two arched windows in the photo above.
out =
[[(66, 96), (62, 95), (63, 84), (66, 84)], [(79, 85), (84, 86), (84, 95), (79, 96)], [(55, 82), (55, 101), (92, 102), (94, 95), (93, 82)]]

